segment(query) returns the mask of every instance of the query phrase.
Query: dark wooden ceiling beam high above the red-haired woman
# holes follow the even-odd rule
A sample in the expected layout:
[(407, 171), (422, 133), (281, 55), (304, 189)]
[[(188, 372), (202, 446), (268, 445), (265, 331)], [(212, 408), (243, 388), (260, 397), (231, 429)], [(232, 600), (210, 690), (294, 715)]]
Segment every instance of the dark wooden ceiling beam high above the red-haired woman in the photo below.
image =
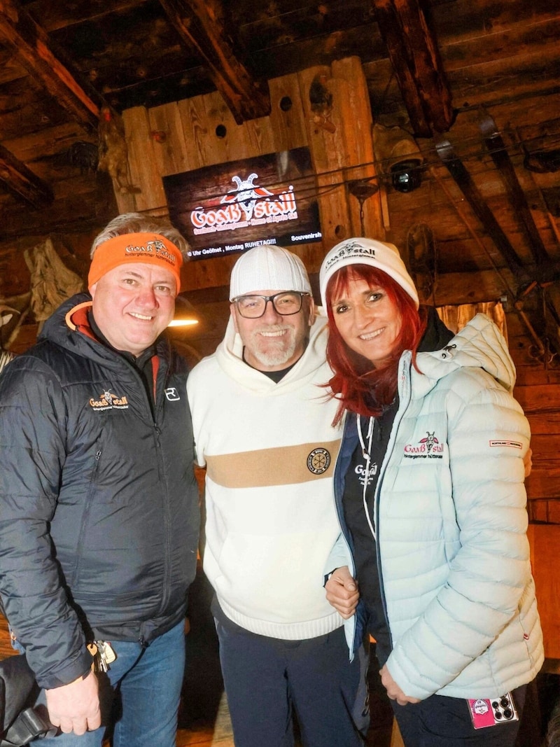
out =
[(371, 0), (414, 134), (447, 132), (455, 120), (435, 35), (419, 0)]

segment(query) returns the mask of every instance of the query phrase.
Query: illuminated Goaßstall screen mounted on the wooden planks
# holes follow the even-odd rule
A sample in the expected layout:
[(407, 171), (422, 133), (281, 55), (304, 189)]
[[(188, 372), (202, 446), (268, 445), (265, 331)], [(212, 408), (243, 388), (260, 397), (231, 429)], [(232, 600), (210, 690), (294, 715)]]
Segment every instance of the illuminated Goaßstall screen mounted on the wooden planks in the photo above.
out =
[(164, 189), (191, 259), (322, 238), (308, 148), (164, 176)]

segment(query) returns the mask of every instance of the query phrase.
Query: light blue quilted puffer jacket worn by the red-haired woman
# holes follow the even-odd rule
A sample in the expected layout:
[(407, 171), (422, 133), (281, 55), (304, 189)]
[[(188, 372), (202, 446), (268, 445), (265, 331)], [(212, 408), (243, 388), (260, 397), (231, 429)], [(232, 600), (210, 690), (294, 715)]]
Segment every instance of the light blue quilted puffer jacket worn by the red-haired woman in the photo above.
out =
[[(484, 314), (444, 350), (419, 353), (417, 367), (404, 353), (376, 489), (387, 665), (415, 698), (491, 698), (532, 681), (544, 660), (526, 539), (529, 424), (510, 393), (505, 340)], [(342, 524), (356, 442), (349, 417), (335, 474)], [(330, 568), (348, 560), (347, 542), (343, 526)], [(351, 648), (360, 622), (346, 623)]]

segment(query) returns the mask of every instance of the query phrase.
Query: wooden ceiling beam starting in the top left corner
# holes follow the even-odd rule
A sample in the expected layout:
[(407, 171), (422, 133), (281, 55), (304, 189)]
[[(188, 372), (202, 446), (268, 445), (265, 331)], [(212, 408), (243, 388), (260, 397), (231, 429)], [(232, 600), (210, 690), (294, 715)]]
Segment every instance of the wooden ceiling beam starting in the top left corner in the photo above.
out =
[(97, 129), (99, 105), (93, 101), (86, 86), (78, 82), (51, 49), (49, 37), (16, 0), (0, 3), (0, 40), (13, 55), (38, 78), (69, 114), (88, 129)]

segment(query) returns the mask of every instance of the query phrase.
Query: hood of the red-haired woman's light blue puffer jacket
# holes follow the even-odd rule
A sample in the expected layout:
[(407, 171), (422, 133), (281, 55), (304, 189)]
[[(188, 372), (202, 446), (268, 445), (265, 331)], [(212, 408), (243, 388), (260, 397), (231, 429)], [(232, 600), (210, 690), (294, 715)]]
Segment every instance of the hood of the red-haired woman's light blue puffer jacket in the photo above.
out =
[(482, 368), (507, 391), (514, 388), (515, 366), (500, 329), (486, 314), (476, 314), (441, 350), (418, 353), (421, 373), (433, 382), (458, 368)]

